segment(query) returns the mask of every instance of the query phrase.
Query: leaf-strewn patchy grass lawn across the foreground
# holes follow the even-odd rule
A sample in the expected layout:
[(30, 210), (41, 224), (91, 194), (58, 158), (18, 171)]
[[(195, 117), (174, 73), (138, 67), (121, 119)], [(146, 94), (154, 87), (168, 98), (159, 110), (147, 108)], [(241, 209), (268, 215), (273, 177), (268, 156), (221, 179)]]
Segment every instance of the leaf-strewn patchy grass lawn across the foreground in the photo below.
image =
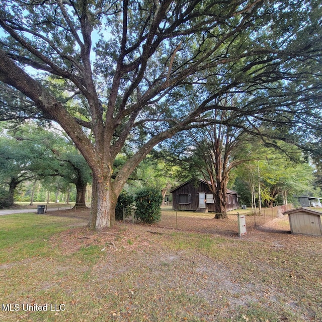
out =
[(322, 238), (85, 225), (0, 217), (0, 321), (322, 321)]

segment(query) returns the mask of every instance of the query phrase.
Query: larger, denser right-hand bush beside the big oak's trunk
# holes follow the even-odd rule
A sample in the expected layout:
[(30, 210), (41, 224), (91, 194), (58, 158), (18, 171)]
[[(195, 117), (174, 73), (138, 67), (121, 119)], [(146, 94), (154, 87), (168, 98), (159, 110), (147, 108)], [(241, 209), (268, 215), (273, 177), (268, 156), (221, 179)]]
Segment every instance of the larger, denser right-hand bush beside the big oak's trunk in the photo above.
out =
[(161, 217), (162, 194), (154, 188), (140, 190), (135, 197), (135, 217), (153, 223)]

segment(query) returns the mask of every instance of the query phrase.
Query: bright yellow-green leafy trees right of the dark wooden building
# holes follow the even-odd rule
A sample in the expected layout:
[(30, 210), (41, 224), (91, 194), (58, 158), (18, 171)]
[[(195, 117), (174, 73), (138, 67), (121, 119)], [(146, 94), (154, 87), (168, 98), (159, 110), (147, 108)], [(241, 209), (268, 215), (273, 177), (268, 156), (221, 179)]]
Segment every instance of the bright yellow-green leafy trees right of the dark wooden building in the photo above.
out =
[(259, 199), (259, 183), (261, 201), (267, 206), (294, 202), (293, 195), (315, 195), (312, 188), (314, 169), (305, 162), (301, 150), (291, 144), (275, 143), (280, 149), (254, 141), (243, 151), (253, 159), (234, 172), (236, 180), (233, 189), (241, 196), (240, 204), (252, 203), (252, 187), (253, 197)]

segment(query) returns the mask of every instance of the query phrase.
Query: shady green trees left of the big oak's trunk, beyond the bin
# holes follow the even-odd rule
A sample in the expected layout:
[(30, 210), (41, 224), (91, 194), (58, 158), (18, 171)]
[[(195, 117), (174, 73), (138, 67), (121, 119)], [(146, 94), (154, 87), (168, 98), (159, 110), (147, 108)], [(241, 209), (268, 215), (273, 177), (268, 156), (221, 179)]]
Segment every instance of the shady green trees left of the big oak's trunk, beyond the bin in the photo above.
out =
[[(9, 190), (9, 205), (15, 201), (29, 201), (30, 186), (35, 180), (49, 191), (66, 193), (70, 184), (76, 186), (77, 196), (86, 190), (92, 181), (91, 171), (84, 157), (70, 144), (68, 139), (55, 129), (43, 129), (35, 122), (12, 127), (2, 125), (0, 131), (0, 179)], [(16, 196), (18, 189), (22, 192)], [(39, 190), (38, 190), (39, 192)], [(39, 193), (38, 193), (39, 194)], [(82, 199), (76, 196), (76, 201)], [(43, 196), (39, 201), (43, 201)], [(34, 201), (37, 198), (35, 196)], [(83, 200), (83, 203), (84, 200)]]

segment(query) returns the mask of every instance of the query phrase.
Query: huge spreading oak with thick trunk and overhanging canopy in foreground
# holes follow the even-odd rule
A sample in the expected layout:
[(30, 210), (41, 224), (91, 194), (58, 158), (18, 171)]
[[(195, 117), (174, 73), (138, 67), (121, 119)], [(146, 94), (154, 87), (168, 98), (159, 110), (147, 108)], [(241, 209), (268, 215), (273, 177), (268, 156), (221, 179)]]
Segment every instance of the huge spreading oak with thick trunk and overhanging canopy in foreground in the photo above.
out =
[[(254, 121), (314, 116), (320, 12), (315, 0), (0, 0), (0, 81), (58, 122), (84, 155), (90, 226), (101, 228), (153, 146), (216, 122), (205, 113), (223, 109), (227, 93), (249, 102), (224, 109)], [(69, 100), (48, 75), (64, 81)], [(129, 138), (133, 153), (113, 176)]]

